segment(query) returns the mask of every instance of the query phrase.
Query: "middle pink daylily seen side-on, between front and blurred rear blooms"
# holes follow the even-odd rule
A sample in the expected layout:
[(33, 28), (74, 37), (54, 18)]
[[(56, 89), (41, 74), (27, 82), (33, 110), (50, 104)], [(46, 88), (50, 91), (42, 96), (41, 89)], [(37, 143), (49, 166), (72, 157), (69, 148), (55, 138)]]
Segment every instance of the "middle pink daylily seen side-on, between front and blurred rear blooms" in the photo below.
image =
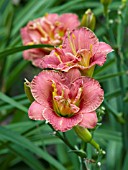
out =
[(71, 68), (80, 69), (83, 75), (92, 76), (96, 64), (102, 66), (110, 45), (99, 42), (96, 35), (88, 28), (73, 30), (66, 35), (62, 47), (56, 48), (42, 60), (42, 68), (54, 68), (68, 72)]

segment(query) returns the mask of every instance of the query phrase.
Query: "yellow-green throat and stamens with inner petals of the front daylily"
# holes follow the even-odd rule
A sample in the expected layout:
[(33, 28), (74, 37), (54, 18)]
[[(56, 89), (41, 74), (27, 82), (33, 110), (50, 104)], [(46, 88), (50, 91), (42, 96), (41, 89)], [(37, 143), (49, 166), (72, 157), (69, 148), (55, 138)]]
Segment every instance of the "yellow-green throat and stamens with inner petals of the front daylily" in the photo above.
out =
[(80, 110), (82, 88), (78, 89), (75, 98), (70, 99), (70, 90), (67, 87), (62, 87), (61, 84), (56, 84), (54, 81), (52, 82), (52, 87), (53, 109), (58, 116), (72, 117)]

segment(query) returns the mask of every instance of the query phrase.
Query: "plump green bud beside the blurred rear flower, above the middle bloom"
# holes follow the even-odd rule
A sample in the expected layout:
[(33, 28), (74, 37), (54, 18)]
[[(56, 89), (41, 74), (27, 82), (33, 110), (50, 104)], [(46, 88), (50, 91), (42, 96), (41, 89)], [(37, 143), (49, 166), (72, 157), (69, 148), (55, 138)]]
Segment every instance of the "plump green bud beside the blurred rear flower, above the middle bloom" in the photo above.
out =
[(91, 30), (94, 30), (95, 24), (96, 24), (96, 17), (91, 11), (91, 9), (88, 9), (82, 17), (81, 26), (85, 26), (90, 28)]

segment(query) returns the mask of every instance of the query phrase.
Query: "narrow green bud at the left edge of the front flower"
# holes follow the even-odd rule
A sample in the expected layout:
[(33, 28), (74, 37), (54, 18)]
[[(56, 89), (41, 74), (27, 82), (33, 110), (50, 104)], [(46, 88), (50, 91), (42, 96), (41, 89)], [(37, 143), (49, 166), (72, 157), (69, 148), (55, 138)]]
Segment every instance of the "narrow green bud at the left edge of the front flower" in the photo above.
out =
[(28, 80), (25, 79), (26, 82), (24, 82), (24, 91), (28, 97), (28, 99), (30, 100), (30, 102), (33, 102), (34, 101), (34, 98), (32, 96), (32, 93), (31, 93), (31, 89), (30, 89), (30, 82)]

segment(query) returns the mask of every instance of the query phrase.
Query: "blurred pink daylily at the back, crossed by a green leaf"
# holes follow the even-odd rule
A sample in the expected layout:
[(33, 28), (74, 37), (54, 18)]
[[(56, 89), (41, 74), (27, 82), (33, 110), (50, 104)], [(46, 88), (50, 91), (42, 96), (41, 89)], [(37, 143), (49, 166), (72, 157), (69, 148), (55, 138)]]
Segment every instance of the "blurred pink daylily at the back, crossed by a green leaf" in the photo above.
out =
[[(67, 30), (78, 27), (80, 22), (77, 15), (72, 13), (57, 15), (46, 14), (42, 18), (30, 21), (21, 29), (24, 45), (50, 44), (60, 45)], [(24, 59), (31, 60), (33, 65), (40, 67), (40, 60), (49, 54), (51, 48), (30, 49), (23, 53)]]

